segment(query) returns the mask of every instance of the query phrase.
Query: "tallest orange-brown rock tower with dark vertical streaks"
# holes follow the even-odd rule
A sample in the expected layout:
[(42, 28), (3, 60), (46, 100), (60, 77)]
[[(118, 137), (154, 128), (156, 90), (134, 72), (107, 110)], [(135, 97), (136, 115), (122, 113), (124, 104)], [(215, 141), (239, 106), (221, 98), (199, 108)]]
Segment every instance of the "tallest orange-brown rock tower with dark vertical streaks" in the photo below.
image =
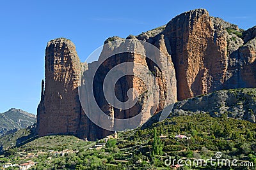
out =
[(173, 18), (164, 30), (170, 40), (178, 100), (217, 90), (227, 69), (225, 28), (212, 24), (206, 10)]

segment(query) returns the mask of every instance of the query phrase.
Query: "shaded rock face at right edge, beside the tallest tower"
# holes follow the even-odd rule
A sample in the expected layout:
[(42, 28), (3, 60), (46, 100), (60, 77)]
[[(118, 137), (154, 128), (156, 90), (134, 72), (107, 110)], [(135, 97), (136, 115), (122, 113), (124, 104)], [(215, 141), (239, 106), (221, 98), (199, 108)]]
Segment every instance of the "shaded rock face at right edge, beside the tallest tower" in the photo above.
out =
[(256, 57), (255, 30), (256, 27), (253, 27), (244, 31), (243, 37), (241, 38), (235, 34), (226, 34), (229, 37), (228, 50), (230, 52), (223, 89), (250, 88), (256, 86), (256, 71), (254, 69)]

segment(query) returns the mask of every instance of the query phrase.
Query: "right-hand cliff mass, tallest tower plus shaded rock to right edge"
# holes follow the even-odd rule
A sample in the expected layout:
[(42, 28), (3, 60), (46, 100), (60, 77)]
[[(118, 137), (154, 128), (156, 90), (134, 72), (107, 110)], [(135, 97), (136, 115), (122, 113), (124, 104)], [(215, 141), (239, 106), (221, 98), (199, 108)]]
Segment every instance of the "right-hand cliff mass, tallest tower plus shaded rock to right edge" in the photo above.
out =
[(145, 32), (138, 39), (154, 44), (164, 36), (175, 67), (179, 101), (215, 90), (256, 86), (255, 27), (242, 36), (237, 25), (198, 9), (182, 13), (156, 30), (154, 37)]

